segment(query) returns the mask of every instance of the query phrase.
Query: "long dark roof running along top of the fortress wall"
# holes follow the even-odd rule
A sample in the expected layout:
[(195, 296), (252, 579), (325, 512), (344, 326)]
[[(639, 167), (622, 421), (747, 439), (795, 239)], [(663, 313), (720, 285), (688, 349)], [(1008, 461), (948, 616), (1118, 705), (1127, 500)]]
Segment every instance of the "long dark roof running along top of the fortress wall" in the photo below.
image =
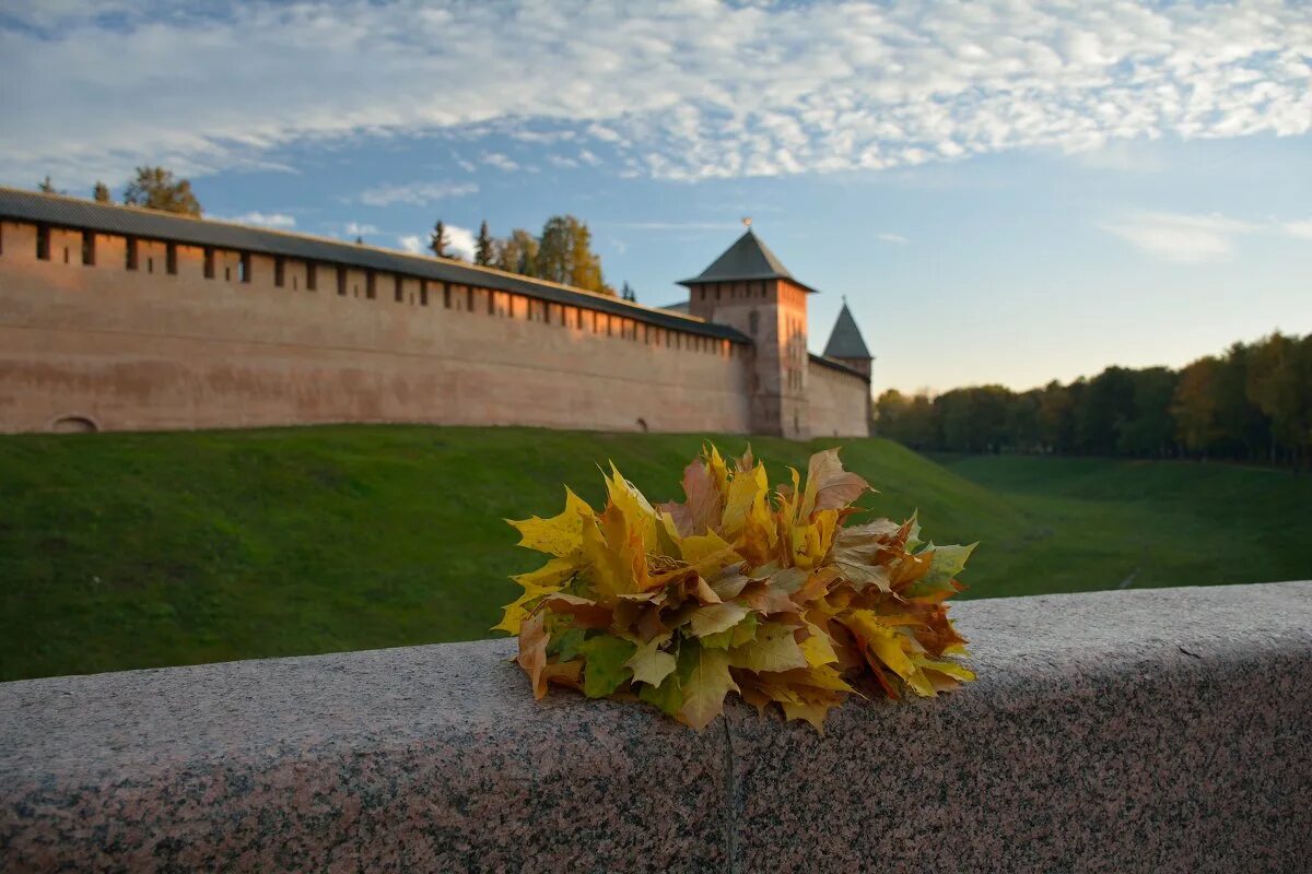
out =
[(266, 231), (228, 221), (211, 221), (172, 212), (96, 203), (80, 198), (7, 187), (0, 187), (0, 219), (400, 273), (436, 282), (496, 288), (539, 300), (586, 307), (661, 328), (716, 337), (735, 343), (752, 342), (745, 334), (728, 325), (718, 325), (687, 316), (681, 317), (677, 313), (643, 307), (619, 297), (596, 295), (500, 270), (475, 267), (459, 261), (375, 249), (374, 246), (302, 233)]

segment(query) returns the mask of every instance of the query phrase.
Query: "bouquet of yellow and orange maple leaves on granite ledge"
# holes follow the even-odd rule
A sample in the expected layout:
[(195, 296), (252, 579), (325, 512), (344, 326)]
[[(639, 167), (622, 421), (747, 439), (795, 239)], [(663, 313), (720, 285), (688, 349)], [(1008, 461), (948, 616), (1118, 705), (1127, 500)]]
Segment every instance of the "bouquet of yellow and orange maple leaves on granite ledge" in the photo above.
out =
[(567, 489), (559, 516), (510, 522), (551, 556), (513, 578), (523, 595), (497, 625), (520, 636), (534, 697), (636, 697), (702, 729), (737, 692), (823, 729), (853, 683), (896, 698), (975, 679), (947, 658), (966, 650), (945, 604), (974, 545), (922, 544), (914, 516), (846, 525), (870, 486), (837, 449), (804, 485), (791, 474), (771, 493), (750, 449), (731, 465), (708, 447), (682, 503), (652, 506), (611, 465), (601, 512)]

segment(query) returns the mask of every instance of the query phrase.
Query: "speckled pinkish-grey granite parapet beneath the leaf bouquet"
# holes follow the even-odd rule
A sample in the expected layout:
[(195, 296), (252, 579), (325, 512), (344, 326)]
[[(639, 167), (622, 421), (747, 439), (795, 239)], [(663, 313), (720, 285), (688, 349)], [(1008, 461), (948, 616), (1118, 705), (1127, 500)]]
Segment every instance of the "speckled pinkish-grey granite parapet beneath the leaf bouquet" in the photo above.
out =
[(1312, 584), (956, 615), (977, 683), (824, 738), (504, 641), (0, 684), (0, 869), (1312, 870)]

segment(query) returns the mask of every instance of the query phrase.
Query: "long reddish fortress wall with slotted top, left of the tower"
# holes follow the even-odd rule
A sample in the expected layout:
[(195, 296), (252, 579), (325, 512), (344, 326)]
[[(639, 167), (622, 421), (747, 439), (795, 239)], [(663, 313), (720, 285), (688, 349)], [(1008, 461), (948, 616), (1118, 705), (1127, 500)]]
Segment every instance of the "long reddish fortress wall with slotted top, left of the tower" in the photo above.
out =
[(752, 350), (728, 341), (291, 258), (278, 286), (277, 259), (214, 250), (210, 279), (206, 249), (147, 240), (131, 271), (130, 245), (94, 235), (84, 265), (83, 235), (52, 228), (42, 261), (34, 225), (0, 228), (0, 431), (749, 427)]

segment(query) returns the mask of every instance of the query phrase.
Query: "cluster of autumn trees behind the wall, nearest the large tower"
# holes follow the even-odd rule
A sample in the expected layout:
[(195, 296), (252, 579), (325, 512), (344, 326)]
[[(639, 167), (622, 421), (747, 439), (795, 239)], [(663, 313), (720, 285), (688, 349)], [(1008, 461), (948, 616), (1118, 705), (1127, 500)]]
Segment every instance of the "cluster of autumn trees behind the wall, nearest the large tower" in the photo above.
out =
[[(438, 219), (428, 248), (438, 258), (459, 259), (450, 246), (446, 224)], [(509, 236), (493, 237), (483, 221), (474, 242), (474, 263), (604, 295), (617, 294), (602, 276), (601, 256), (592, 249), (592, 231), (572, 215), (551, 216), (537, 236), (516, 228)], [(638, 299), (627, 282), (619, 295), (625, 300)]]

